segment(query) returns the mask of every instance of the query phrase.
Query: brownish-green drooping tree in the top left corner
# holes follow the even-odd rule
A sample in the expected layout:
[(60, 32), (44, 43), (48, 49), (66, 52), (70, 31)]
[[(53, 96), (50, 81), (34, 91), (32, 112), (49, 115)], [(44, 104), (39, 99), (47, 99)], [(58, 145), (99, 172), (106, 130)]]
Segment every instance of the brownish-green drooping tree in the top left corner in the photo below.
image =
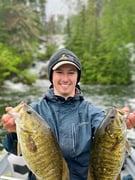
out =
[(0, 17), (0, 41), (19, 52), (35, 54), (44, 27), (33, 6), (16, 1), (3, 2), (0, 4)]

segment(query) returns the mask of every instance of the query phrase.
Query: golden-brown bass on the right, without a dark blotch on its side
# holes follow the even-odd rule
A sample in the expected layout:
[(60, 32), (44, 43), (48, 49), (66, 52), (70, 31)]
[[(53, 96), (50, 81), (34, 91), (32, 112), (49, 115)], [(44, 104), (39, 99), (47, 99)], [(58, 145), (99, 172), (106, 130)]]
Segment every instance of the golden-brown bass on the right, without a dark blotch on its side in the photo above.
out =
[(128, 147), (125, 119), (125, 112), (112, 107), (99, 125), (93, 137), (88, 180), (120, 179)]

